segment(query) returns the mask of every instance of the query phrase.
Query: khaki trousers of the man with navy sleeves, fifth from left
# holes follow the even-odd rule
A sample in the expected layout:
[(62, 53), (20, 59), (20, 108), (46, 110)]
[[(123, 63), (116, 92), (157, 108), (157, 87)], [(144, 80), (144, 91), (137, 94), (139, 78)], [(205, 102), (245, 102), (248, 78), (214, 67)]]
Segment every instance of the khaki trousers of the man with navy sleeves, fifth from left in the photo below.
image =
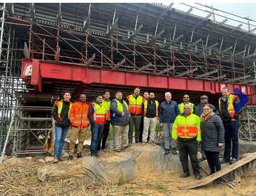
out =
[[(124, 149), (128, 144), (128, 132), (129, 132), (129, 125), (127, 126), (113, 126), (113, 142), (114, 142), (114, 150), (120, 150), (120, 143), (122, 149)], [(120, 142), (120, 134), (122, 134), (122, 142)]]

